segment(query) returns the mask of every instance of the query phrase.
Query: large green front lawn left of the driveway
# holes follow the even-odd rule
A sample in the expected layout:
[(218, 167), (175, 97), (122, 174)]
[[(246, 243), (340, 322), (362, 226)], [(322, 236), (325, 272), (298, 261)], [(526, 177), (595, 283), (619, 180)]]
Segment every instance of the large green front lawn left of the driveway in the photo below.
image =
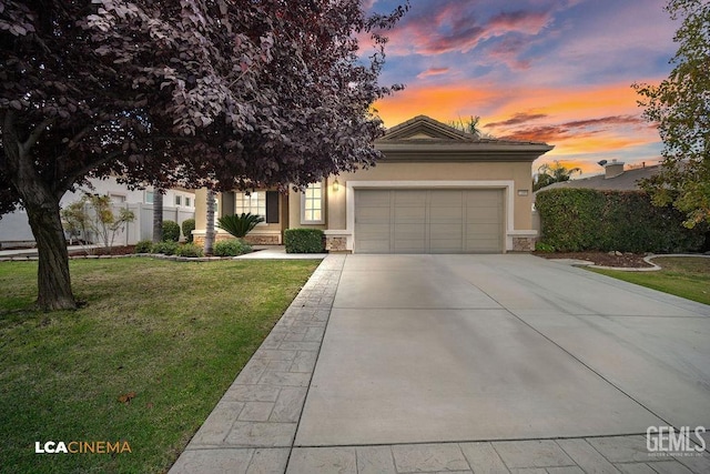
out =
[[(165, 472), (315, 266), (77, 260), (85, 306), (41, 313), (37, 264), (0, 263), (0, 471)], [(132, 452), (34, 454), (36, 441)]]

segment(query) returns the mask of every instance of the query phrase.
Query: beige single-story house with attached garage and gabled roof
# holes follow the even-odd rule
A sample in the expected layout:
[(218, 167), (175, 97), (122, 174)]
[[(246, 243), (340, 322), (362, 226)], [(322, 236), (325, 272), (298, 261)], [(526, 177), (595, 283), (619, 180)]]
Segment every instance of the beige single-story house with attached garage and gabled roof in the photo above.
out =
[[(356, 253), (527, 251), (531, 163), (552, 147), (479, 138), (419, 115), (375, 142), (377, 165), (329, 177), (301, 193), (219, 194), (219, 215), (252, 212), (265, 222), (247, 235), (281, 243), (293, 228), (325, 231), (326, 249)], [(196, 193), (195, 241), (204, 241), (206, 191)], [(229, 238), (217, 233), (217, 240)]]

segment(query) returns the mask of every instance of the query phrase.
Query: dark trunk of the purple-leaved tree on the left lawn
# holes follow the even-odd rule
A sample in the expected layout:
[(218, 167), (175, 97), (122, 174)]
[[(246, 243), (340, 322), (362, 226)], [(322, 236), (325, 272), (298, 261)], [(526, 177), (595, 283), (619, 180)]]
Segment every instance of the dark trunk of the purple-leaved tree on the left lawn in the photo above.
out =
[(51, 193), (24, 201), (27, 215), (37, 241), (39, 269), (37, 273), (37, 305), (44, 311), (74, 310), (71, 292), (69, 253), (59, 214), (59, 200)]

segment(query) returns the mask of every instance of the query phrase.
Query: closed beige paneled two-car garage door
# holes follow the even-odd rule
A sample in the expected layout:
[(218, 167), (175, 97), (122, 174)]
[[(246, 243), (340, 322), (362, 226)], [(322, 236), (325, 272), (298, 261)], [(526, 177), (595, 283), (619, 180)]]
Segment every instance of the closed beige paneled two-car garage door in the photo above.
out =
[(503, 252), (503, 190), (355, 190), (355, 252)]

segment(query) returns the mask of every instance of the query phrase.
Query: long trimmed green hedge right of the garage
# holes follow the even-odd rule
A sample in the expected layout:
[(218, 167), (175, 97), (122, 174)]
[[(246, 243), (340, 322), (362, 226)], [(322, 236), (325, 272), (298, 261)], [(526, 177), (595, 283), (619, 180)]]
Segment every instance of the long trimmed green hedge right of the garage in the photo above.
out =
[(539, 192), (535, 205), (540, 241), (561, 252), (692, 252), (707, 232), (686, 229), (680, 212), (652, 205), (641, 191), (554, 189)]

